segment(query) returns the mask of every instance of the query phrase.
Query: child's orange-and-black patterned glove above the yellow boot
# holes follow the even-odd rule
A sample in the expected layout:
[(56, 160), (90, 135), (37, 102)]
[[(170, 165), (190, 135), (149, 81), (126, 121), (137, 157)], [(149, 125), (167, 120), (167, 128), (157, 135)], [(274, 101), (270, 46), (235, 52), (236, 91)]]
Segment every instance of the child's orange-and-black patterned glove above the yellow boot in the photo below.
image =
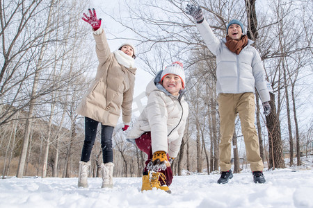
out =
[(167, 167), (170, 166), (170, 162), (168, 162), (168, 157), (166, 156), (166, 152), (157, 151), (153, 153), (152, 161), (147, 164), (147, 169), (149, 171), (159, 172), (161, 170), (166, 170)]

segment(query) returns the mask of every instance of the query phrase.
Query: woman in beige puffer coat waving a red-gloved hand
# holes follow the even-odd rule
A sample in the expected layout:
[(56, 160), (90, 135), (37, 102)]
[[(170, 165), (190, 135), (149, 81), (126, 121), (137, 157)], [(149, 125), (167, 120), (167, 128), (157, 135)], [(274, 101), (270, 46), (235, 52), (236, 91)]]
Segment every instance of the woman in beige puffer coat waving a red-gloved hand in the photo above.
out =
[(90, 154), (95, 144), (97, 125), (101, 123), (101, 147), (103, 155), (102, 188), (113, 187), (112, 133), (122, 110), (122, 121), (127, 130), (131, 121), (131, 104), (134, 94), (136, 68), (134, 68), (135, 49), (131, 44), (122, 44), (113, 53), (109, 49), (106, 34), (97, 19), (95, 9), (89, 9), (83, 20), (93, 26), (96, 53), (99, 60), (95, 80), (77, 107), (77, 114), (85, 116), (85, 141), (79, 162), (78, 187), (88, 187)]

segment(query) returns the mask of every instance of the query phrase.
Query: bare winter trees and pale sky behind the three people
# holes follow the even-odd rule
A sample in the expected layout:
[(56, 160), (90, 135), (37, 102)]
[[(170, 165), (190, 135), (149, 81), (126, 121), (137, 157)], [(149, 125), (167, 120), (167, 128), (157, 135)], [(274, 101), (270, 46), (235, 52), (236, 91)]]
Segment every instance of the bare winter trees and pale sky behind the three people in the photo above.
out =
[[(186, 71), (189, 117), (179, 156), (185, 172), (217, 173), (219, 120), (215, 56), (186, 15), (188, 1), (1, 1), (0, 175), (77, 177), (84, 138), (75, 113), (95, 76), (97, 58), (83, 12), (95, 8), (111, 51), (136, 45), (134, 116), (145, 105), (145, 86), (167, 64)], [(272, 112), (262, 114), (256, 98), (256, 127), (266, 168), (300, 165), (313, 154), (312, 1), (199, 1), (214, 33), (239, 19), (255, 41), (270, 83)], [(131, 124), (131, 125), (132, 125)], [(127, 143), (119, 121), (113, 133), (115, 177), (140, 177), (146, 156)], [(131, 128), (131, 127), (130, 127)], [(98, 134), (99, 135), (99, 134)], [(247, 166), (240, 121), (232, 140), (234, 173)], [(296, 164), (293, 164), (296, 157)], [(289, 158), (289, 164), (284, 163)], [(97, 139), (90, 177), (99, 176), (102, 151)]]

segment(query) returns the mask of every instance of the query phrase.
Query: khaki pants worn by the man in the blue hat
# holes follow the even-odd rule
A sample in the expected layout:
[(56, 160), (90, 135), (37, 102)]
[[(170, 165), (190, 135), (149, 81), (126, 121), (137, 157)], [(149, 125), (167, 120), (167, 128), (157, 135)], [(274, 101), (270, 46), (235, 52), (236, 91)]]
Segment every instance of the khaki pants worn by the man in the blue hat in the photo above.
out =
[(243, 94), (219, 94), (218, 110), (220, 113), (220, 169), (229, 171), (232, 151), (232, 137), (237, 112), (241, 121), (241, 131), (246, 145), (247, 160), (251, 171), (263, 171), (262, 158), (259, 155), (259, 138), (255, 129), (255, 95), (252, 92)]

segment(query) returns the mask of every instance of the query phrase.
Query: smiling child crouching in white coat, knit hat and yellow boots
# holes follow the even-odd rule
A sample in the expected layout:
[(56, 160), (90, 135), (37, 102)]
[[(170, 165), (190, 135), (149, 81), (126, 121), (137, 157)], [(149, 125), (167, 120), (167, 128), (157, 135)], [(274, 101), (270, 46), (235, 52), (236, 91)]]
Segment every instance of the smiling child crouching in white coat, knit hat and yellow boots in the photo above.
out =
[(174, 62), (147, 85), (147, 106), (127, 136), (148, 155), (141, 191), (156, 187), (170, 193), (170, 164), (179, 152), (188, 116), (184, 84), (183, 65)]

